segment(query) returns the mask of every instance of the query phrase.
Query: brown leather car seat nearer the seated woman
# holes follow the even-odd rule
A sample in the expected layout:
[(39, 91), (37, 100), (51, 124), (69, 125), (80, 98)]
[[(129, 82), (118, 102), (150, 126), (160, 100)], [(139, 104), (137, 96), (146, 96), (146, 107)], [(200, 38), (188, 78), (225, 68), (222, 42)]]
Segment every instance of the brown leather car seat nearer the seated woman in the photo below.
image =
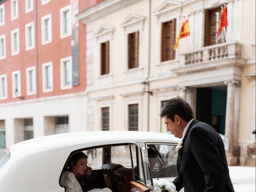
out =
[(106, 187), (110, 188), (113, 192), (118, 192), (116, 182), (114, 181), (113, 171), (122, 168), (123, 166), (115, 163), (107, 163), (103, 164), (101, 167)]

